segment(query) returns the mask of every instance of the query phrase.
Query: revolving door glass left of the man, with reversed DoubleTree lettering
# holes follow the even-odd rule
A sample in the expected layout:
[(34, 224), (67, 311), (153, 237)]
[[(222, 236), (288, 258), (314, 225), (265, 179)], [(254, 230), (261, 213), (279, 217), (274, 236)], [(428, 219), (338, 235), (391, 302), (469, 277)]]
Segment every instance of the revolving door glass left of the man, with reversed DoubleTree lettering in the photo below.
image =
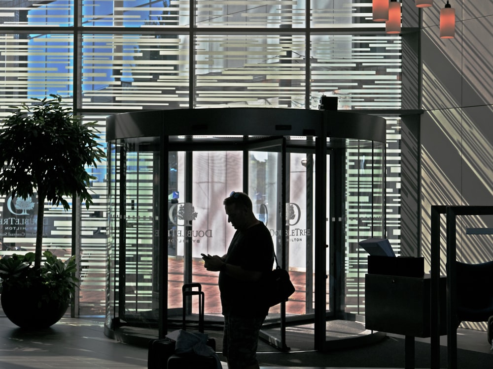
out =
[[(168, 307), (182, 306), (183, 283), (199, 282), (205, 292), (206, 317), (221, 315), (218, 273), (204, 268), (201, 253), (222, 256), (233, 237), (235, 229), (227, 221), (223, 200), (231, 191), (242, 190), (243, 152), (178, 151), (170, 158), (173, 155), (176, 183), (169, 183)], [(188, 312), (197, 311), (193, 299)]]

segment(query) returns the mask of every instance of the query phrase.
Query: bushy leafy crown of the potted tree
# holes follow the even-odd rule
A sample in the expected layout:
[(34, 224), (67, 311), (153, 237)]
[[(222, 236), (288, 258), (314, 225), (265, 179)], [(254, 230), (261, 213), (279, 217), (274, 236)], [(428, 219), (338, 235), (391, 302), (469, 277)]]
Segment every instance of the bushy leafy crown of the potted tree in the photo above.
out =
[[(73, 196), (86, 206), (92, 204), (86, 168), (105, 159), (96, 141), (96, 123), (84, 123), (73, 115), (60, 95), (32, 100), (30, 105), (9, 107), (13, 111), (2, 121), (0, 195), (26, 199), (37, 191), (39, 203), (61, 204), (65, 210), (70, 209), (66, 199)], [(38, 222), (42, 221), (41, 213)], [(42, 234), (36, 236), (35, 265), (39, 266)]]

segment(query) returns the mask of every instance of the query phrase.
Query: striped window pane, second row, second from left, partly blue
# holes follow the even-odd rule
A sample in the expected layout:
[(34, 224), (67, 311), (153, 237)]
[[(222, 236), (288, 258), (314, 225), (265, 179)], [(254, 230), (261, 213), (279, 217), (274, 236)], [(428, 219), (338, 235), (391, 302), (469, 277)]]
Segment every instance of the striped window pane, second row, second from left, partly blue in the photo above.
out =
[(189, 105), (187, 36), (86, 34), (82, 39), (84, 108)]

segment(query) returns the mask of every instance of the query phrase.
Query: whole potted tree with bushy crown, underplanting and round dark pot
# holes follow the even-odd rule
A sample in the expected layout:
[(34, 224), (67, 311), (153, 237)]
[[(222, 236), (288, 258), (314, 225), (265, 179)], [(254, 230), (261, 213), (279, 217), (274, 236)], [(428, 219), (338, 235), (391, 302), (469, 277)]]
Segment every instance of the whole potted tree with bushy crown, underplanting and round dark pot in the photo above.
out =
[[(105, 156), (96, 141), (96, 122), (83, 123), (62, 104), (62, 96), (50, 97), (11, 107), (14, 112), (0, 128), (0, 194), (26, 200), (36, 192), (38, 201), (35, 253), (0, 259), (2, 307), (21, 327), (46, 327), (58, 321), (77, 282), (74, 257), (62, 262), (47, 251), (41, 265), (44, 202), (69, 210), (67, 198), (72, 198), (89, 207), (92, 196), (87, 187), (94, 177), (86, 167), (97, 166)], [(58, 318), (43, 316), (53, 310)]]

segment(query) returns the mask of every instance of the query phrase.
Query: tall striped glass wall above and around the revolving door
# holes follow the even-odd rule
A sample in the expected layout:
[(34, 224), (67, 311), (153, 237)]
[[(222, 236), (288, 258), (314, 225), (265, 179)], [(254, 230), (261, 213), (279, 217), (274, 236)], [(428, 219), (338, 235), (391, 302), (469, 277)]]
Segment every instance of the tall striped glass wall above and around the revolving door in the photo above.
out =
[[(9, 106), (30, 104), (31, 97), (60, 94), (75, 113), (99, 123), (101, 144), (106, 147), (106, 116), (120, 112), (210, 106), (318, 109), (321, 95), (337, 96), (341, 110), (371, 109), (379, 114), (381, 109), (398, 109), (402, 105), (402, 37), (386, 35), (382, 23), (371, 21), (368, 1), (199, 0), (194, 4), (190, 8), (189, 1), (181, 0), (2, 3), (0, 119), (10, 114)], [(387, 122), (392, 130), (397, 127), (389, 133), (393, 138), (398, 135), (400, 121), (394, 117)], [(387, 150), (387, 163), (397, 166), (387, 171), (391, 177), (387, 198), (393, 204), (392, 217), (387, 221), (387, 227), (392, 224), (392, 229), (387, 235), (398, 247), (400, 141), (396, 142), (395, 151)], [(180, 165), (185, 154), (176, 155), (176, 165)], [(225, 151), (224, 155), (232, 154)], [(300, 157), (292, 155), (293, 175), (297, 172), (303, 176), (295, 167)], [(151, 158), (140, 154), (128, 160), (126, 170), (136, 176), (129, 180), (140, 183), (144, 178), (141, 176), (151, 176), (150, 168), (144, 165), (152, 162)], [(72, 213), (49, 204), (41, 206), (48, 219), (46, 247), (62, 257), (73, 249), (79, 258), (81, 285), (75, 315), (102, 316), (105, 276), (114, 273), (107, 265), (106, 237), (108, 229), (119, 226), (107, 223), (111, 199), (106, 185), (117, 181), (119, 172), (106, 173), (106, 162), (89, 170), (97, 177), (91, 183), (94, 205), (89, 210), (81, 207), (80, 239), (74, 245), (70, 242)], [(181, 196), (178, 201), (186, 194), (186, 189), (178, 189), (182, 186), (180, 180), (183, 181), (177, 174), (176, 192)], [(139, 188), (129, 184), (129, 190), (140, 196), (145, 185), (152, 187), (152, 181), (146, 178)], [(289, 196), (301, 196), (296, 189), (292, 191)], [(38, 206), (35, 197), (32, 201)], [(291, 202), (299, 204), (298, 199)], [(34, 215), (30, 220), (26, 215), (15, 215), (22, 220), (12, 220), (13, 213), (19, 213), (15, 201), (1, 197), (0, 205), (3, 254), (16, 248), (33, 248), (29, 223), (35, 223)], [(139, 244), (141, 237), (156, 226), (145, 217), (148, 210), (143, 204), (129, 209), (135, 217), (135, 229), (129, 231), (134, 247), (145, 249)], [(297, 224), (304, 221), (301, 215)], [(354, 251), (359, 236), (351, 237), (347, 247)], [(180, 247), (173, 241), (170, 236), (170, 249)], [(141, 262), (146, 261), (147, 252), (139, 253)], [(355, 251), (352, 255), (359, 257)], [(308, 253), (305, 256), (311, 257)], [(294, 260), (299, 255), (289, 257)], [(146, 283), (138, 280), (133, 263), (135, 260), (129, 260), (129, 289)], [(152, 287), (149, 291), (146, 293), (152, 296)], [(354, 308), (358, 309), (361, 310)]]

